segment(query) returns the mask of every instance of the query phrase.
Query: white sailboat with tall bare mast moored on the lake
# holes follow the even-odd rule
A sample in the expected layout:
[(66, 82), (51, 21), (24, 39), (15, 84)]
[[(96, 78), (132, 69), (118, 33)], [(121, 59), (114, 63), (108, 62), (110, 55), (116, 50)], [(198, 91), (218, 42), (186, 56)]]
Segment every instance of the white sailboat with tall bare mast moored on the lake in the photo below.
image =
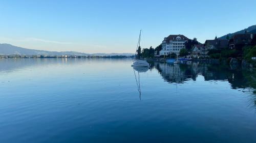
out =
[[(141, 36), (141, 30), (140, 30), (140, 36)], [(136, 53), (135, 53), (135, 59), (134, 62), (132, 64), (132, 67), (150, 67), (150, 64), (148, 64), (145, 60), (140, 60), (140, 36), (139, 36), (139, 41), (137, 44), (137, 49), (136, 49)]]

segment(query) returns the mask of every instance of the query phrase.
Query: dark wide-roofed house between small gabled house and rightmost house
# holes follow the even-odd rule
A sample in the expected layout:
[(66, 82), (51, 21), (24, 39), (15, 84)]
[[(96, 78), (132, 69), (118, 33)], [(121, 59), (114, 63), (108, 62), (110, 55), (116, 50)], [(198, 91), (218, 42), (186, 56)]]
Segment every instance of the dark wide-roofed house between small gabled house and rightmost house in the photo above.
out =
[(224, 49), (228, 47), (228, 42), (229, 40), (215, 37), (214, 40), (206, 40), (204, 46), (206, 49)]

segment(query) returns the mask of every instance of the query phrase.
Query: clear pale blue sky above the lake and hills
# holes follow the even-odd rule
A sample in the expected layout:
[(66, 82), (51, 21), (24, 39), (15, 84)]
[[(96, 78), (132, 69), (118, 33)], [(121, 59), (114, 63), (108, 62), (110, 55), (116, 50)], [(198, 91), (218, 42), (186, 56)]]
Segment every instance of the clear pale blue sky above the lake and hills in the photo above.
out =
[(0, 43), (29, 49), (134, 53), (182, 34), (204, 43), (256, 24), (256, 1), (3, 1)]

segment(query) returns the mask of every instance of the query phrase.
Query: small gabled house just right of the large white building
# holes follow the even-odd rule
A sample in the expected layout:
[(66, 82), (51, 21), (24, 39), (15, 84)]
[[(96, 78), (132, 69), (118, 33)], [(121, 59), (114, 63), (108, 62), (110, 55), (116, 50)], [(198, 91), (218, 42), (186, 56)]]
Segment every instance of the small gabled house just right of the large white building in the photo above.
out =
[(203, 46), (203, 44), (194, 45), (190, 53), (190, 57), (200, 58), (207, 56), (208, 50)]

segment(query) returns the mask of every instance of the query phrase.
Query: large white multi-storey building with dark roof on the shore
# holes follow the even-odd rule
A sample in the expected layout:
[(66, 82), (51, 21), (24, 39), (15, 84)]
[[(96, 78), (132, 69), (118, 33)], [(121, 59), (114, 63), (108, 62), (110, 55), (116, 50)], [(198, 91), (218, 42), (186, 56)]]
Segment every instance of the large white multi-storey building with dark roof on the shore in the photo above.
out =
[(170, 53), (180, 54), (180, 49), (185, 48), (185, 42), (188, 40), (184, 35), (169, 35), (162, 42), (162, 50), (160, 55), (168, 55)]

